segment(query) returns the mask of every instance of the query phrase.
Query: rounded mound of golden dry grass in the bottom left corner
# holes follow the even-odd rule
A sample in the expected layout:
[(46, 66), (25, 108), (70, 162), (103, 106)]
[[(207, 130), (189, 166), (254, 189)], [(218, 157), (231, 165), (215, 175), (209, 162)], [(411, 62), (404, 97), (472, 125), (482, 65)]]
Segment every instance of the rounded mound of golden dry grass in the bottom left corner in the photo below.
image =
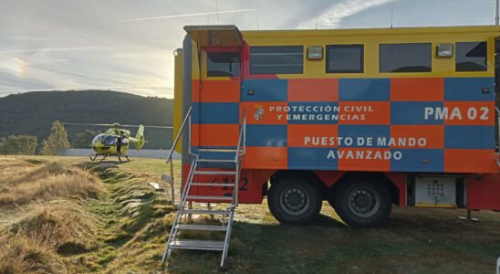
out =
[(98, 248), (95, 220), (75, 208), (43, 205), (0, 237), (0, 273), (74, 272), (74, 254)]

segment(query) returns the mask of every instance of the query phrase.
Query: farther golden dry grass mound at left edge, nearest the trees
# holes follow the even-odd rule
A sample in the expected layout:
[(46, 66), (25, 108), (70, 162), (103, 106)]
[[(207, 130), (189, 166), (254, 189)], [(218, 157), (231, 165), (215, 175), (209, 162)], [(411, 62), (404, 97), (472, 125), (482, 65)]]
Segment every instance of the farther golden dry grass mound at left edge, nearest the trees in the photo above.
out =
[(14, 162), (0, 172), (0, 205), (26, 205), (68, 195), (96, 197), (101, 190), (95, 175), (56, 164)]

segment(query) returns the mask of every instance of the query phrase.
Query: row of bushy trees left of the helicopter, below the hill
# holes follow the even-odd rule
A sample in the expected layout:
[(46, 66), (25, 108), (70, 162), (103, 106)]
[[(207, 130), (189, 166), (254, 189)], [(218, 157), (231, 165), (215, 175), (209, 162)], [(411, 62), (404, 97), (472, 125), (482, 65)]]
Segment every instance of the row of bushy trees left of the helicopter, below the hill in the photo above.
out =
[(52, 123), (50, 135), (38, 147), (38, 140), (34, 135), (9, 135), (0, 138), (0, 154), (9, 155), (57, 155), (59, 149), (89, 148), (92, 138), (100, 132), (78, 132), (72, 142), (68, 141), (68, 132), (59, 121)]

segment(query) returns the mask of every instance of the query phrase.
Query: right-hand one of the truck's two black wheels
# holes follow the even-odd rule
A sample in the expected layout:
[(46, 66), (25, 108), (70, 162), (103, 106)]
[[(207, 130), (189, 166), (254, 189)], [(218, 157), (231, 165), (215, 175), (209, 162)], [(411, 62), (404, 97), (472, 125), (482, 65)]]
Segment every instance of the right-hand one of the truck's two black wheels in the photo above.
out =
[(343, 182), (332, 202), (337, 214), (349, 227), (378, 227), (392, 209), (389, 188), (369, 177)]

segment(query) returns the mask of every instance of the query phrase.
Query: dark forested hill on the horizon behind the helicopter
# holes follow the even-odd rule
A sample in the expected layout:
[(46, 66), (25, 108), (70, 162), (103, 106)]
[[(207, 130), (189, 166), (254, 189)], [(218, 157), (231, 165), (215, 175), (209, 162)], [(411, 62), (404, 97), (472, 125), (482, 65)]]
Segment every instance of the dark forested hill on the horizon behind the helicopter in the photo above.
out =
[[(172, 126), (173, 100), (110, 90), (34, 91), (0, 98), (0, 137), (30, 134), (47, 139), (53, 121)], [(69, 141), (77, 132), (104, 132), (106, 127), (67, 127)], [(130, 129), (135, 135), (135, 129)], [(167, 149), (172, 130), (146, 129), (144, 148)], [(90, 141), (89, 141), (90, 142)]]

